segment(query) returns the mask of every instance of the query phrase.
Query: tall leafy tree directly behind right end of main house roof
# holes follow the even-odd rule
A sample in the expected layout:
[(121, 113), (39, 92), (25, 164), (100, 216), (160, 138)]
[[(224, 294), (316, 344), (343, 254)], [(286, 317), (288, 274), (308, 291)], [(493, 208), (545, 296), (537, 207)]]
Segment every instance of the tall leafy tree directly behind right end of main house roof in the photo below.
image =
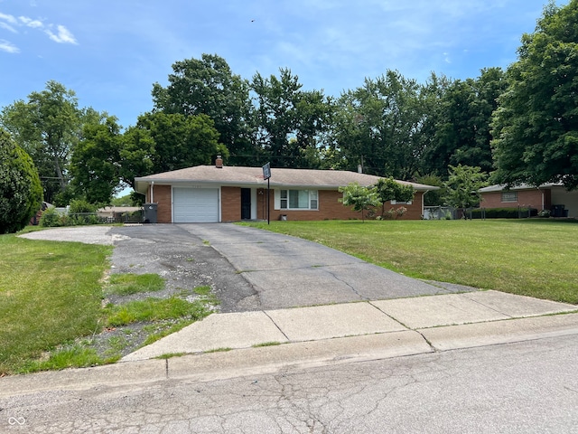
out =
[(407, 180), (417, 173), (424, 151), (424, 87), (398, 71), (344, 93), (331, 146), (342, 169)]

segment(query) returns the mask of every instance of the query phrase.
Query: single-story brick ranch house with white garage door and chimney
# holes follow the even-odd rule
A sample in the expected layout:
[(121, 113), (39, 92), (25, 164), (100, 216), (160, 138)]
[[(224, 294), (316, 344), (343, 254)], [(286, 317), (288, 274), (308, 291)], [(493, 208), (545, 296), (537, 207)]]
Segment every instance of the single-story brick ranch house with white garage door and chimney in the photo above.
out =
[[(340, 186), (373, 185), (379, 177), (339, 170), (272, 168), (269, 184), (270, 220), (360, 219), (360, 212), (339, 202)], [(424, 193), (438, 187), (407, 183), (415, 188), (412, 203), (387, 203), (386, 209), (404, 206), (403, 218), (418, 220), (424, 213)], [(156, 203), (156, 221), (238, 222), (267, 219), (267, 181), (261, 167), (197, 165), (163, 174), (135, 178), (135, 190), (146, 203)]]

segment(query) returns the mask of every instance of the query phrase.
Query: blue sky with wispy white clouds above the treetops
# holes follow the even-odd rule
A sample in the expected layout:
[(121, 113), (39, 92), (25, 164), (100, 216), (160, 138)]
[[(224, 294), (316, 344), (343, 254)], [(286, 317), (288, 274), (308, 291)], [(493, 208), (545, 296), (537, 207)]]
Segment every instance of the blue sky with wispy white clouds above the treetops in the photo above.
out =
[(336, 97), (388, 69), (475, 78), (516, 61), (546, 1), (0, 0), (0, 108), (56, 80), (128, 127), (172, 63), (203, 52), (248, 80), (289, 68)]

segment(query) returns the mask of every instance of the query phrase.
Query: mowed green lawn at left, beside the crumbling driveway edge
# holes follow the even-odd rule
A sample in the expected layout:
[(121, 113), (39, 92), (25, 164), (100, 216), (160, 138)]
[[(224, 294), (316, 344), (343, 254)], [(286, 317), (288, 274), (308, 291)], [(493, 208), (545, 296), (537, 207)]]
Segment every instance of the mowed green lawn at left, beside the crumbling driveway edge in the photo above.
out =
[(112, 247), (0, 236), (0, 375), (98, 332)]

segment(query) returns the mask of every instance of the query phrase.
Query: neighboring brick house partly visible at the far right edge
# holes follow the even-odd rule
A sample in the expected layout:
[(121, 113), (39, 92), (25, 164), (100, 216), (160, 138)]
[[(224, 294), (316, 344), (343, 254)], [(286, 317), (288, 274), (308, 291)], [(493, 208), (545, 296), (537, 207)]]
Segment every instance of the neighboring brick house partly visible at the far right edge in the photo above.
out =
[(578, 218), (578, 191), (568, 192), (562, 184), (527, 184), (509, 189), (504, 185), (490, 185), (480, 189), (483, 208), (532, 207), (549, 210), (555, 217)]

